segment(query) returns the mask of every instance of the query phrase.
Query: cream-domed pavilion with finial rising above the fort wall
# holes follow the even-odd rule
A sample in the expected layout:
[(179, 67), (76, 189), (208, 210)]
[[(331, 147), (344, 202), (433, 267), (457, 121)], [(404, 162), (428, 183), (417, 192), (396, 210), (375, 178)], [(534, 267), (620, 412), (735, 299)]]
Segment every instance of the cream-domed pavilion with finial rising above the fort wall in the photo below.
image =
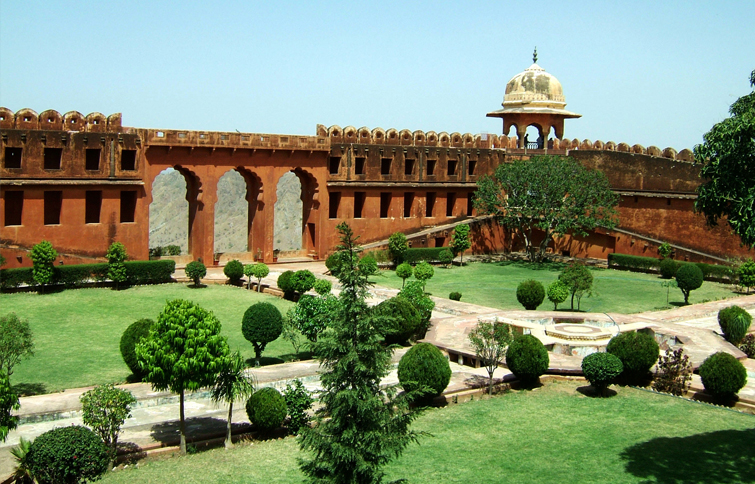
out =
[[(564, 119), (579, 118), (582, 115), (567, 111), (564, 90), (561, 83), (545, 69), (537, 65), (537, 49), (532, 56), (533, 64), (524, 72), (512, 77), (506, 84), (503, 96), (503, 109), (488, 113), (489, 118), (503, 118), (503, 134), (516, 127), (519, 148), (543, 149), (551, 129), (556, 138), (563, 139)], [(537, 128), (537, 141), (531, 140), (525, 146), (527, 127)]]

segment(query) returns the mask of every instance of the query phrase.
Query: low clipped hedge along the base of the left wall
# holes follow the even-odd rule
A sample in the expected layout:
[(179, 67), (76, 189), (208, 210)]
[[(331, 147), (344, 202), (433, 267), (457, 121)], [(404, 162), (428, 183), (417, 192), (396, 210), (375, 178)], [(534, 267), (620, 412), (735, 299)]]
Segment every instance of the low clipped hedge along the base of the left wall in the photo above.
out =
[[(172, 260), (130, 261), (125, 265), (127, 284), (170, 282), (176, 270), (176, 262)], [(107, 280), (107, 263), (55, 266), (53, 284), (75, 287), (90, 280)], [(34, 285), (31, 267), (0, 270), (0, 288), (10, 289), (23, 284)]]

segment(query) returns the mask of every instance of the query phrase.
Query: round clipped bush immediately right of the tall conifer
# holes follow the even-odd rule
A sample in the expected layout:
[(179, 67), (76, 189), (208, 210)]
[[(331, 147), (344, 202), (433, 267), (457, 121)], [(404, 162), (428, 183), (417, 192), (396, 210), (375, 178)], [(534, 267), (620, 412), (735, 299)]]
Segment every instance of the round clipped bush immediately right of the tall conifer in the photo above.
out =
[(443, 393), (451, 381), (451, 366), (434, 345), (418, 343), (401, 357), (398, 381), (407, 392), (430, 388), (422, 397), (433, 398)]

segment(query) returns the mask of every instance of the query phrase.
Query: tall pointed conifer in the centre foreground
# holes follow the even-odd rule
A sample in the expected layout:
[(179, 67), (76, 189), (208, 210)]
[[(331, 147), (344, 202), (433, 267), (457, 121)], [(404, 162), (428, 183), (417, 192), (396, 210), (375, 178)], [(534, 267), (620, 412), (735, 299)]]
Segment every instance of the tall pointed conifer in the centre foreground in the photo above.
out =
[(388, 375), (392, 350), (382, 344), (382, 319), (373, 317), (365, 299), (370, 282), (358, 267), (360, 248), (346, 223), (339, 251), (341, 305), (330, 327), (311, 344), (322, 367), (318, 424), (303, 428), (300, 467), (311, 482), (379, 483), (382, 467), (417, 440), (409, 426), (417, 413), (409, 397), (380, 382)]

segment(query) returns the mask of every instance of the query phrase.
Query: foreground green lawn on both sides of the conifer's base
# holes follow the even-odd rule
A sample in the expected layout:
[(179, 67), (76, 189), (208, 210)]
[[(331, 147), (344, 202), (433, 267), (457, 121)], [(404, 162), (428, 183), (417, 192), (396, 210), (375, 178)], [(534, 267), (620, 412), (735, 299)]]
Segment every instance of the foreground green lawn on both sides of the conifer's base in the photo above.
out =
[[(386, 468), (409, 483), (752, 483), (755, 417), (632, 388), (590, 398), (573, 382), (448, 408)], [(293, 438), (143, 462), (104, 483), (299, 483)]]

